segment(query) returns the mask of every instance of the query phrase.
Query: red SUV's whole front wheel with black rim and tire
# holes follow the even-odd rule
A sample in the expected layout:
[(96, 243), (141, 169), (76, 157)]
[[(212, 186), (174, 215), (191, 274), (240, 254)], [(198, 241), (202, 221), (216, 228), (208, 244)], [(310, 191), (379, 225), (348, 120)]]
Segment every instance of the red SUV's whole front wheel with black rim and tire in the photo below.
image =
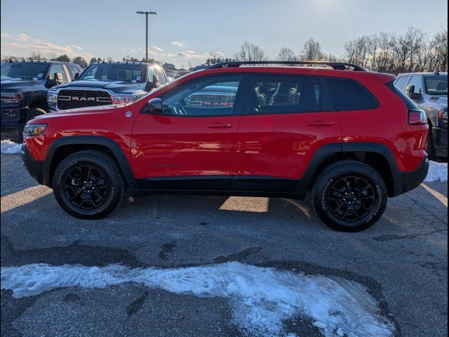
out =
[(116, 161), (100, 151), (70, 154), (60, 162), (53, 175), (56, 201), (76, 218), (107, 216), (123, 201), (125, 192), (126, 186)]

